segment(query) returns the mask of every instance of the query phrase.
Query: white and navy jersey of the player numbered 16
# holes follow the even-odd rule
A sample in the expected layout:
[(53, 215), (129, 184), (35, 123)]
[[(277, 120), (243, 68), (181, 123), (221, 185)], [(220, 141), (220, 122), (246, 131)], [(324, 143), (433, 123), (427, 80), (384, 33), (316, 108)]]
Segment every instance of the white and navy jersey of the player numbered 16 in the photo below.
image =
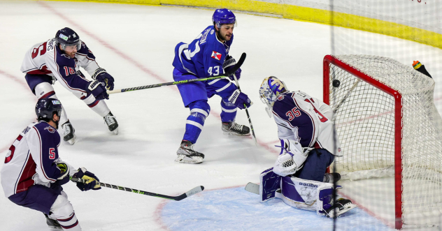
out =
[(86, 93), (90, 81), (77, 72), (82, 67), (92, 76), (99, 66), (87, 45), (81, 43), (81, 48), (73, 59), (60, 50), (55, 44), (55, 38), (37, 43), (25, 54), (20, 70), (33, 75), (56, 77), (69, 91), (76, 94)]

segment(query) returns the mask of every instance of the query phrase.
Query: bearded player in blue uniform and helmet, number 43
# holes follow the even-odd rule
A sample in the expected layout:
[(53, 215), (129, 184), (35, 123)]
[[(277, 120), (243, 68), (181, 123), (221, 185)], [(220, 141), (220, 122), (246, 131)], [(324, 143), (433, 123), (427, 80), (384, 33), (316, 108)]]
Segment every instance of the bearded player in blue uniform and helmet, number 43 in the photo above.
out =
[[(202, 31), (192, 43), (178, 43), (173, 59), (173, 80), (190, 80), (197, 77), (213, 77), (223, 75), (232, 68), (236, 61), (229, 56), (229, 49), (234, 39), (236, 17), (227, 9), (215, 10), (212, 17), (213, 25)], [(241, 69), (236, 70), (237, 78), (241, 77)], [(233, 75), (230, 76), (233, 80)], [(201, 163), (204, 154), (194, 151), (204, 121), (211, 110), (207, 100), (215, 94), (221, 100), (222, 131), (228, 135), (250, 135), (250, 128), (235, 123), (236, 110), (250, 107), (251, 100), (238, 91), (229, 79), (220, 78), (206, 82), (179, 84), (181, 98), (185, 107), (189, 107), (185, 134), (177, 151), (176, 162)]]

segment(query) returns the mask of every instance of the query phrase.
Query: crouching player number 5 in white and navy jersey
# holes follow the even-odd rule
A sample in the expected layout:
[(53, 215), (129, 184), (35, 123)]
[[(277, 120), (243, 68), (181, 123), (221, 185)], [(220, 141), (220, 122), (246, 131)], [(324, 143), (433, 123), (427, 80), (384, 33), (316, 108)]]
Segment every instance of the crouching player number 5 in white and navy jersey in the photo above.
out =
[(24, 128), (9, 148), (1, 168), (1, 186), (10, 201), (43, 212), (50, 228), (81, 230), (62, 185), (76, 177), (87, 181), (77, 183), (81, 191), (98, 190), (99, 179), (84, 167), (75, 170), (59, 158), (59, 100), (41, 98), (35, 110), (38, 122)]

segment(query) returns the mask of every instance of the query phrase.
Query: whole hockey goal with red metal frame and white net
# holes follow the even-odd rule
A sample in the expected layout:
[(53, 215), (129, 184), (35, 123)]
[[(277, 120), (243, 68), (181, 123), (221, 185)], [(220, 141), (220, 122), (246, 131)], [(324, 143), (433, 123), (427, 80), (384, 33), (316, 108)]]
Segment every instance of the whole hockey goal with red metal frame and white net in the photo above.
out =
[(348, 184), (346, 195), (380, 218), (392, 216), (393, 228), (438, 227), (442, 119), (434, 80), (386, 57), (327, 55), (323, 64), (324, 101), (343, 152), (333, 170), (344, 182), (366, 181)]

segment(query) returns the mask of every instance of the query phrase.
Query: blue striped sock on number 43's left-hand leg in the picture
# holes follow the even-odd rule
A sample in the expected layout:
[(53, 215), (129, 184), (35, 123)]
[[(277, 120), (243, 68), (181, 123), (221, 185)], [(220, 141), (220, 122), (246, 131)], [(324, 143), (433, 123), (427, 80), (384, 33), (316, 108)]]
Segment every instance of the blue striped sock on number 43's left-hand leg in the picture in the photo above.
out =
[(204, 121), (211, 111), (211, 107), (206, 100), (198, 100), (189, 105), (190, 116), (187, 117), (186, 131), (183, 140), (188, 140), (192, 144), (196, 143), (204, 126)]

